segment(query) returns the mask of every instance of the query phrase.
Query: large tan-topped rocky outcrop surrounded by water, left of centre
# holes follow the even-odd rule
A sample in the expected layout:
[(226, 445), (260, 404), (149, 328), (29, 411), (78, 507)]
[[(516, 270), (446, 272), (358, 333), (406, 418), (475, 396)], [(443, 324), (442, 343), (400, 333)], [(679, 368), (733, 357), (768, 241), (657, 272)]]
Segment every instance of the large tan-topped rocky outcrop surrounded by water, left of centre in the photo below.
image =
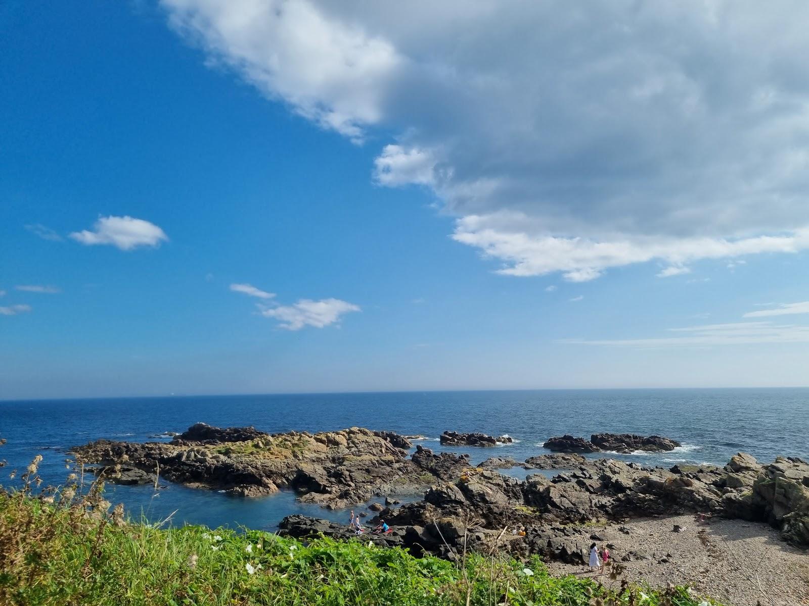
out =
[(301, 500), (325, 507), (418, 490), (452, 473), (457, 477), (456, 470), (468, 466), (465, 460), (449, 460), (451, 455), (418, 465), (407, 457), (409, 446), (402, 436), (359, 427), (270, 435), (253, 427), (197, 423), (169, 444), (98, 440), (73, 452), (80, 463), (99, 464), (95, 469), (112, 482), (152, 482), (159, 474), (247, 497), (290, 488)]

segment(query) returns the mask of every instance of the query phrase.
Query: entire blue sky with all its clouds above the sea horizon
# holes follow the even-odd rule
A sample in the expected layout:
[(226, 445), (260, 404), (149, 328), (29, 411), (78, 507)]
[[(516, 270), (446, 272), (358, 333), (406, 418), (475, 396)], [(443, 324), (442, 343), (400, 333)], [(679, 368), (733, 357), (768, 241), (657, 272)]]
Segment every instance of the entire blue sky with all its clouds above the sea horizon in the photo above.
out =
[(0, 399), (809, 385), (809, 5), (0, 4)]

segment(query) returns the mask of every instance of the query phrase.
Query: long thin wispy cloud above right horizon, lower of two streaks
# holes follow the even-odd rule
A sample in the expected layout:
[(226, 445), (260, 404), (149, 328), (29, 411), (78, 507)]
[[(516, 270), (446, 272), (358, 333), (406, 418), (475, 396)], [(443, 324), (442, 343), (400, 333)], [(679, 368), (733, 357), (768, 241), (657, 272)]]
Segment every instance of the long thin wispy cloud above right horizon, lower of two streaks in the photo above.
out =
[(809, 326), (777, 325), (772, 322), (735, 322), (672, 328), (684, 336), (657, 339), (565, 339), (561, 343), (613, 347), (705, 347), (753, 343), (809, 343)]

